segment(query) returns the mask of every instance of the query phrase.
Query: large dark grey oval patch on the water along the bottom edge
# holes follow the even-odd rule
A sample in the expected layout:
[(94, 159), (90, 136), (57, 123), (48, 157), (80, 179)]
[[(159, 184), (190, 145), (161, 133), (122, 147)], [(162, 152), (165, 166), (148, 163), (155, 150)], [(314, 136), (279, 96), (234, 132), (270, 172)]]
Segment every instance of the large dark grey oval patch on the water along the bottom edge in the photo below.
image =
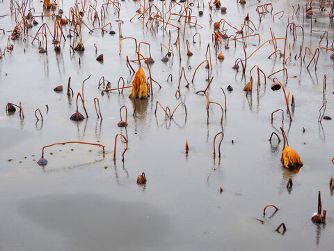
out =
[(19, 213), (66, 238), (67, 250), (170, 250), (178, 239), (157, 208), (102, 195), (35, 197), (22, 202)]

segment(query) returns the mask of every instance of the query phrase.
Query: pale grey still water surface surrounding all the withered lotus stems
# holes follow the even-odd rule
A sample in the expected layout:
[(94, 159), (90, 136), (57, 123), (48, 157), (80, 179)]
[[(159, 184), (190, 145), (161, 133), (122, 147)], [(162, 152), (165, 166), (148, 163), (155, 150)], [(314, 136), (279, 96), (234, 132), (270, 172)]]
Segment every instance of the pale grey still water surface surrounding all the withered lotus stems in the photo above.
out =
[[(51, 43), (47, 54), (38, 53), (38, 45), (31, 44), (27, 38), (13, 41), (14, 50), (6, 53), (0, 60), (0, 249), (1, 250), (328, 250), (331, 248), (333, 233), (334, 202), (333, 192), (328, 183), (334, 175), (331, 159), (333, 155), (333, 120), (317, 123), (319, 109), (327, 100), (326, 114), (334, 116), (333, 110), (333, 61), (330, 51), (320, 50), (317, 70), (311, 64), (294, 59), (303, 45), (312, 50), (318, 47), (319, 31), (328, 30), (328, 47), (333, 41), (333, 24), (328, 22), (328, 11), (321, 13), (319, 4), (315, 5), (312, 31), (310, 19), (305, 17), (302, 39), (298, 33), (294, 41), (288, 31), (287, 43), (291, 43), (292, 56), (287, 61), (288, 76), (283, 73), (276, 77), (283, 82), (287, 92), (296, 100), (292, 111), (292, 123), (288, 114), (284, 123), (276, 114), (271, 123), (271, 112), (286, 109), (283, 91), (271, 91), (272, 78), (267, 84), (261, 79), (260, 91), (253, 90), (245, 96), (244, 85), (249, 81), (249, 70), (257, 64), (270, 75), (283, 67), (283, 59), (267, 57), (273, 52), (269, 43), (256, 52), (247, 61), (246, 79), (241, 71), (232, 70), (234, 61), (244, 57), (242, 43), (237, 46), (230, 41), (230, 49), (223, 49), (224, 61), (216, 59), (212, 44), (213, 25), (209, 23), (207, 3), (204, 15), (198, 17), (200, 29), (187, 28), (185, 38), (189, 39), (193, 56), (186, 56), (186, 45), (182, 40), (182, 60), (175, 47), (174, 57), (167, 63), (161, 58), (167, 53), (161, 52), (160, 43), (168, 45), (168, 33), (160, 27), (158, 33), (142, 29), (141, 20), (129, 19), (140, 6), (133, 1), (122, 1), (120, 19), (122, 36), (133, 36), (151, 44), (151, 54), (155, 63), (151, 67), (152, 78), (161, 84), (159, 89), (153, 83), (154, 95), (149, 100), (138, 102), (138, 116), (134, 118), (133, 101), (128, 98), (129, 89), (123, 94), (117, 91), (101, 95), (97, 88), (100, 77), (104, 76), (116, 88), (118, 78), (125, 79), (130, 86), (133, 75), (126, 67), (126, 56), (136, 59), (134, 42), (122, 41), (119, 54), (118, 24), (113, 10), (109, 10), (106, 22), (111, 22), (116, 35), (102, 34), (100, 31), (88, 33), (83, 29), (83, 53), (70, 53), (72, 41), (62, 44), (62, 52), (55, 54)], [(262, 2), (267, 3), (267, 2)], [(256, 6), (260, 3), (248, 1), (240, 6), (235, 1), (223, 3), (227, 13), (212, 10), (212, 19), (218, 22), (224, 18), (239, 28), (247, 13), (260, 33), (261, 41), (249, 38), (246, 53), (250, 55), (259, 45), (271, 38), (269, 28), (276, 38), (285, 37), (287, 13), (290, 1), (271, 1), (273, 13), (284, 10), (281, 19), (269, 13), (259, 22)], [(300, 2), (305, 5), (304, 2)], [(35, 15), (42, 11), (42, 3), (33, 1)], [(63, 5), (64, 4), (64, 5)], [(73, 3), (60, 3), (65, 15)], [(197, 3), (196, 3), (197, 4)], [(296, 2), (294, 6), (296, 7)], [(161, 2), (157, 2), (161, 8)], [(100, 7), (99, 7), (100, 8)], [(1, 13), (10, 14), (8, 1), (0, 3)], [(330, 9), (329, 7), (327, 8)], [(175, 10), (176, 12), (176, 10)], [(177, 11), (178, 12), (178, 11)], [(198, 15), (197, 9), (193, 13)], [(314, 22), (314, 17), (317, 22)], [(39, 24), (29, 30), (34, 36)], [(290, 22), (303, 25), (303, 16), (290, 17)], [(45, 18), (50, 27), (52, 21)], [(92, 22), (86, 20), (89, 26)], [(177, 20), (173, 20), (177, 24)], [(0, 28), (13, 30), (15, 17), (8, 15), (0, 19)], [(161, 26), (161, 25), (160, 25)], [(68, 33), (69, 27), (65, 33)], [(177, 31), (172, 27), (172, 42)], [(300, 30), (297, 30), (300, 32)], [(183, 31), (182, 31), (183, 32)], [(201, 43), (193, 44), (193, 35), (199, 32)], [(229, 34), (234, 33), (230, 28)], [(7, 44), (8, 35), (0, 36), (1, 50)], [(182, 33), (183, 35), (183, 33)], [(51, 38), (48, 40), (51, 40)], [(283, 50), (283, 40), (278, 47)], [(50, 41), (49, 41), (50, 42)], [(94, 43), (97, 45), (95, 53)], [(198, 69), (193, 84), (186, 89), (186, 81), (180, 84), (181, 98), (175, 98), (181, 68), (191, 82), (198, 64), (205, 60), (207, 44), (212, 50), (214, 77), (209, 87), (209, 100), (223, 105), (224, 98), (220, 89), (228, 85), (234, 89), (226, 92), (227, 112), (221, 120), (221, 110), (212, 106), (207, 124), (207, 97), (196, 94), (207, 86), (207, 70)], [(321, 43), (326, 47), (326, 42)], [(287, 51), (289, 47), (287, 46)], [(25, 49), (25, 52), (24, 52)], [(143, 47), (141, 52), (148, 56)], [(95, 58), (104, 54), (104, 62)], [(80, 63), (79, 63), (80, 62)], [(132, 66), (137, 69), (136, 63)], [(189, 66), (191, 66), (189, 68)], [(148, 68), (143, 67), (148, 76)], [(173, 81), (167, 81), (169, 74)], [(254, 75), (254, 85), (257, 76)], [(323, 94), (322, 81), (327, 76), (326, 92)], [(84, 98), (88, 110), (88, 119), (81, 122), (70, 121), (75, 112), (75, 97), (67, 98), (66, 91), (56, 93), (54, 87), (72, 78), (74, 94), (81, 92), (81, 83), (85, 82)], [(65, 90), (65, 88), (64, 88)], [(100, 99), (103, 121), (97, 119), (93, 98)], [(188, 115), (180, 106), (173, 119), (166, 120), (160, 107), (154, 116), (157, 100), (164, 107), (173, 109), (182, 100), (186, 104)], [(18, 112), (7, 114), (4, 107), (7, 102), (22, 102), (24, 119)], [(49, 112), (45, 105), (49, 106)], [(118, 128), (119, 108), (126, 105), (129, 109), (127, 128)], [(44, 121), (36, 122), (34, 112), (40, 108)], [(84, 111), (79, 104), (79, 112)], [(125, 115), (123, 115), (124, 117)], [(301, 156), (304, 165), (299, 170), (282, 167), (280, 156), (283, 142), (276, 139), (269, 142), (271, 132), (280, 134), (280, 126), (287, 132), (289, 144)], [(305, 132), (303, 132), (305, 128)], [(216, 133), (223, 130), (225, 137), (221, 144), (221, 158), (213, 158), (213, 140)], [(122, 162), (125, 148), (118, 139), (116, 162), (113, 161), (115, 136), (122, 133), (129, 140), (129, 149)], [(189, 141), (189, 153), (184, 153), (186, 139)], [(233, 144), (232, 144), (233, 140)], [(106, 146), (106, 154), (97, 146), (68, 144), (45, 149), (45, 158), (49, 163), (45, 167), (37, 165), (42, 154), (42, 146), (67, 141), (95, 142)], [(10, 160), (10, 161), (8, 161)], [(137, 185), (136, 177), (145, 172), (146, 185)], [(292, 190), (285, 185), (292, 178)], [(223, 192), (219, 192), (219, 187)], [(317, 211), (317, 192), (321, 191), (322, 206), (327, 211), (326, 225), (315, 225), (310, 221)], [(276, 205), (279, 210), (271, 217), (272, 208), (267, 209), (263, 217), (263, 208), (268, 204)], [(263, 220), (262, 224), (259, 220)], [(278, 234), (275, 229), (284, 222), (287, 231)]]

